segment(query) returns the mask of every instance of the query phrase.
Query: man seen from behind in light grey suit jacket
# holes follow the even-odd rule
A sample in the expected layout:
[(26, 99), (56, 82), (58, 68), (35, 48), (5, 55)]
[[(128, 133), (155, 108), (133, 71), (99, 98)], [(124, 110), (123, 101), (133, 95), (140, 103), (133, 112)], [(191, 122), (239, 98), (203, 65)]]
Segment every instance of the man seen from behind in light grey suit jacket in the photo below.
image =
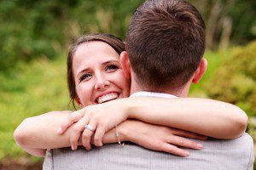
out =
[[(137, 8), (121, 54), (131, 97), (186, 97), (191, 82), (207, 69), (205, 24), (201, 14), (182, 0), (148, 0)], [(172, 94), (172, 95), (171, 95)], [(126, 144), (107, 144), (89, 152), (59, 150), (47, 155), (44, 169), (253, 169), (253, 140), (200, 141), (203, 150), (183, 158)]]

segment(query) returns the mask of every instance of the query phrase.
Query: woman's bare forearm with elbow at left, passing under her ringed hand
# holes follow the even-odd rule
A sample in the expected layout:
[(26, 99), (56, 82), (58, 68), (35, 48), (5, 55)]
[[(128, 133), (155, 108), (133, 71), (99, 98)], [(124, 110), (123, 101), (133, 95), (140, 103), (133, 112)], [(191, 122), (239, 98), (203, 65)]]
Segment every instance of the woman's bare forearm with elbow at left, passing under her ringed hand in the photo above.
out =
[[(53, 111), (40, 116), (26, 118), (15, 129), (14, 136), (17, 144), (33, 156), (44, 156), (47, 149), (69, 147), (70, 128), (62, 135), (57, 133), (57, 129), (61, 126), (61, 123), (67, 121), (68, 115), (71, 112)], [(119, 132), (122, 141), (127, 140), (123, 133), (125, 128), (122, 127)], [(104, 135), (104, 144), (116, 142), (115, 129), (110, 130)], [(79, 145), (81, 145), (81, 141), (79, 141)]]

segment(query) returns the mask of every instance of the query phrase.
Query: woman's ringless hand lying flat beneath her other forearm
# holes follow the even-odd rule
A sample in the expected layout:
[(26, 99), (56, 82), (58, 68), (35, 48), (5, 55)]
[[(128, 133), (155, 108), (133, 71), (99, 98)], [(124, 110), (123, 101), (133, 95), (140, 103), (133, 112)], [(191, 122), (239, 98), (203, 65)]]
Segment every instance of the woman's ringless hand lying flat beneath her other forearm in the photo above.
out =
[(187, 150), (177, 148), (177, 146), (194, 150), (201, 150), (203, 147), (202, 144), (183, 137), (201, 140), (207, 139), (206, 136), (201, 134), (133, 120), (122, 122), (118, 129), (119, 133), (125, 136), (121, 137), (124, 138), (123, 140), (129, 140), (149, 150), (164, 151), (177, 156), (189, 156)]

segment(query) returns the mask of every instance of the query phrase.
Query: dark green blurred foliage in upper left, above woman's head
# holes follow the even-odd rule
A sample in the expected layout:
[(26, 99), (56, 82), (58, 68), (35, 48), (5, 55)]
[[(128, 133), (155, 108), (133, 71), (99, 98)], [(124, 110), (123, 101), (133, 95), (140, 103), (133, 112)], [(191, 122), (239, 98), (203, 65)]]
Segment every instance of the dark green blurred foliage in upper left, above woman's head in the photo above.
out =
[[(131, 14), (143, 0), (0, 1), (0, 71), (19, 61), (55, 59), (84, 32), (125, 37)], [(125, 7), (125, 8), (124, 8)]]

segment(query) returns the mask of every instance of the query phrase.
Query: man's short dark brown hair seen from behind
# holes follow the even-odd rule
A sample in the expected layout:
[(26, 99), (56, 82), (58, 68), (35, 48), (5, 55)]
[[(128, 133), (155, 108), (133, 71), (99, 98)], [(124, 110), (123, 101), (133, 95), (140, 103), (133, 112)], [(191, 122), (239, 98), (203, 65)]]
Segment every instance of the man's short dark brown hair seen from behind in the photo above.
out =
[(181, 87), (205, 51), (205, 23), (182, 0), (148, 0), (131, 18), (126, 50), (137, 82), (144, 88)]

